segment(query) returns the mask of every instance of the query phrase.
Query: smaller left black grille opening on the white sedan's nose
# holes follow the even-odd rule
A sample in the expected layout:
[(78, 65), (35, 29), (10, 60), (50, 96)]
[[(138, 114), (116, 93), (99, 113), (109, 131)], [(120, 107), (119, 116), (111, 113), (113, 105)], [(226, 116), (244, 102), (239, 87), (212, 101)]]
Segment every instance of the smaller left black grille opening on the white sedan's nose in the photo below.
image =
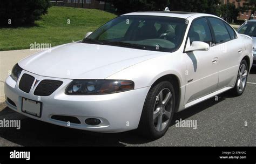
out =
[(29, 93), (32, 84), (34, 83), (35, 78), (29, 74), (23, 74), (21, 80), (19, 80), (19, 89)]

